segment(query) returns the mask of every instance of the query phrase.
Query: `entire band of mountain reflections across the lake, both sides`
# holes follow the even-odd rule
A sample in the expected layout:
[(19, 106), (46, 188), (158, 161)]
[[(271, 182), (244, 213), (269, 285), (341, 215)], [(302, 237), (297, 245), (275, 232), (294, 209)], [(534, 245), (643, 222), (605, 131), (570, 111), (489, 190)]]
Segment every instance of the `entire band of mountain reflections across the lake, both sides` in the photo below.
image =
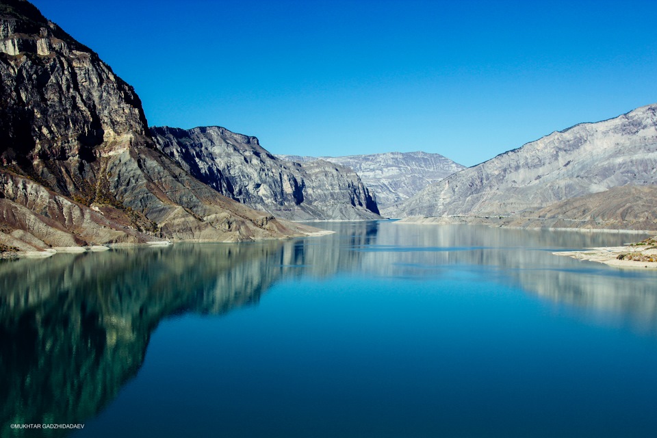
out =
[(1, 262), (0, 430), (7, 433), (12, 423), (83, 423), (136, 375), (163, 318), (257, 303), (281, 279), (338, 273), (435, 279), (466, 270), (657, 333), (655, 274), (551, 254), (641, 236), (391, 222), (322, 226), (337, 233)]

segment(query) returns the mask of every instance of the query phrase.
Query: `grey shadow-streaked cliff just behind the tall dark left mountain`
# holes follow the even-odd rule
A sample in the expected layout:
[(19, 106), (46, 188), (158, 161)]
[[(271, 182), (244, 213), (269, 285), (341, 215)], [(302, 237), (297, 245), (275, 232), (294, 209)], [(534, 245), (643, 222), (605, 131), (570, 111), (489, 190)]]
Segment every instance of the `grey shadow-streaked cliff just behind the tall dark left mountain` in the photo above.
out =
[(374, 197), (350, 168), (285, 162), (255, 137), (222, 127), (153, 127), (157, 148), (217, 192), (292, 220), (380, 219)]

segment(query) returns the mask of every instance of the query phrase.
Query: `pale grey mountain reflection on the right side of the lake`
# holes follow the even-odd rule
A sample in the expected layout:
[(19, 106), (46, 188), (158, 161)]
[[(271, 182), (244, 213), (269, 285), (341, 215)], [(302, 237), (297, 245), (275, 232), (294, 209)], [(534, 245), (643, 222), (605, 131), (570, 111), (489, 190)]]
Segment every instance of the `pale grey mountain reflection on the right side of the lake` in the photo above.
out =
[[(566, 249), (621, 246), (647, 236), (472, 225), (424, 227), (429, 229), (396, 224), (392, 233), (378, 240), (380, 246), (390, 244), (392, 250), (400, 242), (430, 249), (391, 255), (395, 263), (391, 274), (419, 276), (432, 268), (488, 266), (491, 269), (487, 275), (498, 276), (500, 281), (513, 283), (526, 292), (585, 309), (608, 324), (628, 325), (657, 335), (657, 272), (611, 268), (552, 254)], [(370, 264), (380, 263), (379, 258)]]

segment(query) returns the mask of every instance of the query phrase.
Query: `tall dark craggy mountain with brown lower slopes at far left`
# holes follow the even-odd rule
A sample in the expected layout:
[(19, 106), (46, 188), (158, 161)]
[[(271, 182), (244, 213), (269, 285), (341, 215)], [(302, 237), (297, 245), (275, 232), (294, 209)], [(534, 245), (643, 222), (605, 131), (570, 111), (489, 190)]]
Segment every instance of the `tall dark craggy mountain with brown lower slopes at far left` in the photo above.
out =
[(0, 3), (0, 244), (303, 235), (155, 148), (139, 97), (24, 0)]

